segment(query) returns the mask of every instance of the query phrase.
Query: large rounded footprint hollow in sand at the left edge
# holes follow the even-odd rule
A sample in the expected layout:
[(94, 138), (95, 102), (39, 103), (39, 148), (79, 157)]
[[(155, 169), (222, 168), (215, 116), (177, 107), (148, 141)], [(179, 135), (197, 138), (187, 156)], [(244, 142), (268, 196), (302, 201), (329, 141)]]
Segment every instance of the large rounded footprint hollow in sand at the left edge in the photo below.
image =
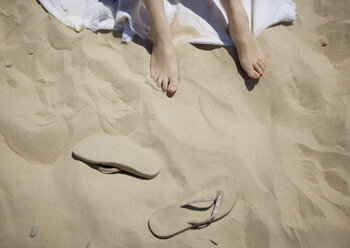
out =
[(67, 146), (64, 118), (43, 104), (33, 82), (16, 69), (0, 84), (0, 132), (7, 145), (25, 159), (51, 163)]

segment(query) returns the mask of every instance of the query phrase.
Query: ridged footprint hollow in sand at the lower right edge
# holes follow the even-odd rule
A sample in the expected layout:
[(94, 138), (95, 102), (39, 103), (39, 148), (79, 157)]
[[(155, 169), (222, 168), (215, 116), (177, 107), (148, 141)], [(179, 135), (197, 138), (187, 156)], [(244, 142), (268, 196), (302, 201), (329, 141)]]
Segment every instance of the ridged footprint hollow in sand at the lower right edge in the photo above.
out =
[(297, 184), (304, 188), (305, 195), (323, 214), (333, 218), (332, 221), (340, 226), (350, 224), (346, 218), (350, 214), (350, 157), (335, 152), (319, 152), (302, 144), (298, 147), (305, 159), (300, 177), (304, 178), (304, 183)]

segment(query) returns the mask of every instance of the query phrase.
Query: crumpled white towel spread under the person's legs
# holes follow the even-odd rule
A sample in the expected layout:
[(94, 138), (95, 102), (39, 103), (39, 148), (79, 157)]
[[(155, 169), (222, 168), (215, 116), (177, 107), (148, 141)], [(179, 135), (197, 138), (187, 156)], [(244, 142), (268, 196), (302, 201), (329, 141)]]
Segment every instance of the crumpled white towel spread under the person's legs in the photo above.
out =
[[(79, 31), (122, 30), (122, 40), (134, 34), (147, 39), (149, 20), (142, 0), (39, 0), (44, 8), (67, 26)], [(292, 0), (242, 0), (255, 35), (279, 22), (296, 17)], [(199, 44), (232, 45), (227, 16), (219, 0), (164, 0), (174, 39)]]

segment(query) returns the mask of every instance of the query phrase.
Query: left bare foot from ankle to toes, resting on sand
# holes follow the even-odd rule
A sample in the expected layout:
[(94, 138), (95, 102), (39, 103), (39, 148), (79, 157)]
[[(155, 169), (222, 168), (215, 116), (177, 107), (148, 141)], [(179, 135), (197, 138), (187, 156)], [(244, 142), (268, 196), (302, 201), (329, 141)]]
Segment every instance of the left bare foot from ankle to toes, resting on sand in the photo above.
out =
[(172, 41), (153, 43), (151, 77), (163, 91), (175, 92), (178, 88), (178, 68)]

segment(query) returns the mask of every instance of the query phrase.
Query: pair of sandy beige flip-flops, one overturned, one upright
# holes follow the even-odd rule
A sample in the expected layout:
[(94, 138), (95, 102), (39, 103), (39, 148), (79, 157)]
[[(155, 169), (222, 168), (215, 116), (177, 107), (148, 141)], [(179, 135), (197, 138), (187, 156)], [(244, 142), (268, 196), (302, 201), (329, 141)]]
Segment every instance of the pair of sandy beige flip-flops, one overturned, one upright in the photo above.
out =
[[(73, 155), (95, 165), (102, 173), (125, 171), (151, 179), (160, 171), (160, 158), (127, 137), (89, 136), (75, 145)], [(156, 211), (149, 219), (149, 228), (158, 238), (170, 238), (189, 229), (206, 227), (225, 217), (237, 198), (232, 180), (223, 180), (222, 183), (208, 186), (207, 190), (190, 200)]]

